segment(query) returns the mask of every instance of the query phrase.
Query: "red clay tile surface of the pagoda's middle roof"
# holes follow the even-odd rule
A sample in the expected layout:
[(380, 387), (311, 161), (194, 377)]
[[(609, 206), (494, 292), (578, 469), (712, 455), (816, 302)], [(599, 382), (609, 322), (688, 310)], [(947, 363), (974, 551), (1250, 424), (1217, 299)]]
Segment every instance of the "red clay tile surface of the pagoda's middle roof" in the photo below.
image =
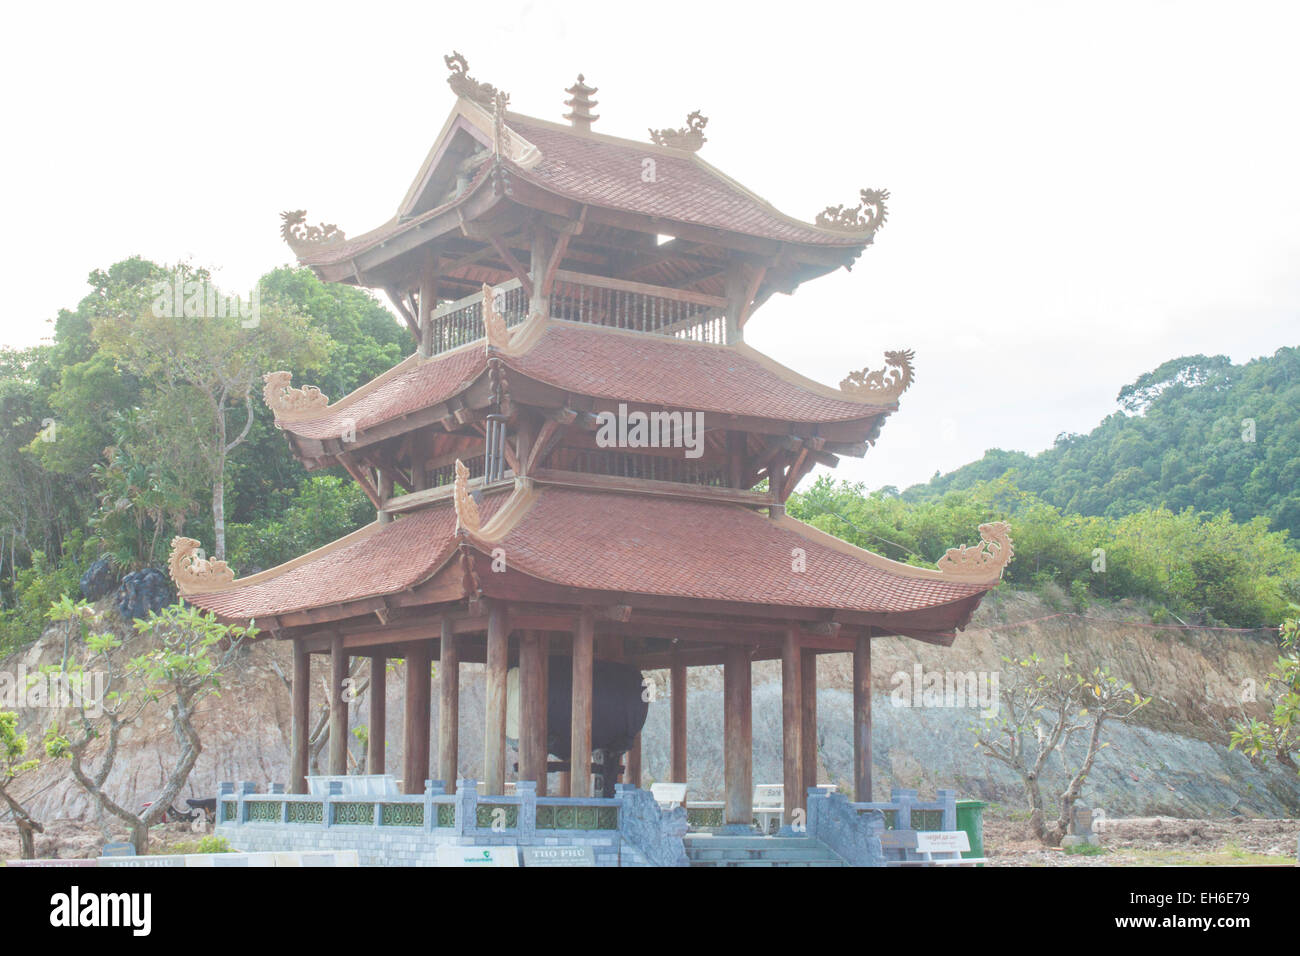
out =
[[(745, 345), (706, 345), (550, 320), (526, 351), (503, 352), (502, 359), (537, 381), (611, 402), (801, 423), (854, 421), (885, 411), (806, 380)], [(338, 438), (351, 420), (361, 433), (456, 395), (485, 371), (488, 360), (480, 341), (407, 363), (406, 371), (394, 369), (320, 418), (281, 424), (294, 434), (321, 440)]]

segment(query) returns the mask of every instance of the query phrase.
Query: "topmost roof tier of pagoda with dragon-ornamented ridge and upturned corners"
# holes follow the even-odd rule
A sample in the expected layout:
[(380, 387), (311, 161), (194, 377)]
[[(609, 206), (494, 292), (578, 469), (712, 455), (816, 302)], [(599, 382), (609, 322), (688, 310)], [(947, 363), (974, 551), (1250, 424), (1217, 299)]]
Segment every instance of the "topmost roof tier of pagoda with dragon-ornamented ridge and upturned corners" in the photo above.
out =
[(672, 235), (694, 251), (785, 255), (802, 281), (850, 265), (884, 224), (885, 191), (863, 190), (857, 207), (827, 207), (815, 222), (781, 212), (699, 157), (707, 120), (698, 113), (686, 129), (637, 142), (593, 131), (597, 117), (571, 113), (566, 125), (510, 112), (508, 98), (452, 69), (460, 95), (394, 217), (348, 238), (334, 225), (307, 226), (302, 211), (285, 213), (282, 234), (300, 263), (328, 280), (389, 287), (410, 272), (398, 260), (412, 250), (469, 237), (476, 224), (502, 234), (523, 209), (594, 234), (623, 229)]

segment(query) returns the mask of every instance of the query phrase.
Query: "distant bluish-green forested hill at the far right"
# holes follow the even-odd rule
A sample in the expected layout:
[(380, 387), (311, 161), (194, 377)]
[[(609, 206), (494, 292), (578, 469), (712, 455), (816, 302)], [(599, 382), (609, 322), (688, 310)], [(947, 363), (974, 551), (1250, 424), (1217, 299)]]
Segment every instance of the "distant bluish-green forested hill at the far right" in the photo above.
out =
[(993, 449), (904, 498), (1006, 476), (1069, 514), (1227, 510), (1300, 537), (1300, 349), (1244, 365), (1223, 355), (1173, 359), (1124, 386), (1118, 403), (1088, 434), (1061, 434), (1032, 457)]

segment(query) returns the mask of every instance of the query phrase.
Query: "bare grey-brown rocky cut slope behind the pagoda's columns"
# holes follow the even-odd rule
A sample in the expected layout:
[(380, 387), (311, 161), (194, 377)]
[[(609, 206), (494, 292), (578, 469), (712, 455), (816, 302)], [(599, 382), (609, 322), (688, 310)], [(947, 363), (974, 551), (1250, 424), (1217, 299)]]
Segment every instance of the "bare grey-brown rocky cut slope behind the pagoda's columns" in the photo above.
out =
[[(978, 719), (975, 706), (902, 706), (901, 691), (916, 675), (974, 674), (975, 688), (989, 688), (993, 675), (1006, 666), (1004, 656), (1036, 650), (1048, 661), (1069, 652), (1080, 665), (1108, 665), (1112, 672), (1131, 680), (1153, 696), (1131, 726), (1109, 724), (1106, 748), (1084, 790), (1084, 801), (1105, 808), (1110, 816), (1296, 816), (1300, 812), (1300, 780), (1287, 767), (1261, 770), (1226, 747), (1227, 732), (1243, 710), (1262, 715), (1261, 701), (1243, 704), (1245, 682), (1261, 688), (1277, 658), (1277, 640), (1268, 632), (1165, 631), (1132, 607), (1089, 611), (1089, 620), (1058, 615), (1039, 598), (1004, 592), (991, 598), (970, 630), (952, 648), (936, 648), (907, 639), (874, 641), (874, 758), (876, 797), (888, 796), (890, 786), (956, 787), (963, 796), (976, 796), (1006, 806), (1019, 806), (1018, 780), (1001, 765), (983, 757), (972, 745), (968, 727)], [(1124, 623), (1132, 620), (1138, 623)], [(1143, 626), (1148, 624), (1148, 626)], [(21, 654), (0, 662), (0, 671), (29, 672), (57, 663), (62, 636), (53, 631)], [(225, 682), (222, 695), (209, 698), (199, 717), (204, 750), (183, 796), (211, 796), (220, 780), (285, 780), (289, 767), (289, 691), (281, 674), (289, 674), (289, 649), (261, 641), (240, 657)], [(819, 780), (848, 788), (852, 774), (852, 662), (833, 654), (818, 667)], [(462, 669), (462, 774), (481, 775), (482, 767), (482, 671)], [(666, 779), (668, 767), (667, 675), (658, 680), (656, 700), (650, 705), (644, 737), (646, 783)], [(325, 669), (321, 659), (313, 671), (313, 713), (325, 700)], [(396, 665), (389, 676), (387, 766), (402, 766), (402, 687), (404, 672)], [(434, 687), (437, 695), (437, 687)], [(914, 701), (915, 702), (915, 701)], [(933, 704), (933, 701), (928, 701)], [(983, 700), (988, 704), (987, 696)], [(434, 701), (437, 721), (437, 701)], [(56, 711), (46, 708), (20, 710), (32, 747)], [(354, 704), (352, 726), (365, 722), (367, 700)], [(702, 667), (692, 671), (688, 704), (689, 775), (696, 799), (722, 792), (722, 672)], [(437, 740), (437, 727), (433, 739)], [(354, 741), (354, 749), (359, 749)], [(133, 728), (122, 740), (117, 766), (109, 779), (112, 791), (138, 805), (161, 787), (176, 744), (160, 710)], [(514, 754), (510, 763), (514, 763)], [(1061, 763), (1048, 767), (1050, 793), (1060, 788)], [(759, 662), (754, 667), (754, 782), (781, 779), (781, 687), (780, 666)], [(25, 780), (36, 816), (43, 819), (88, 818), (88, 797), (72, 782), (66, 767), (44, 758), (43, 766)]]

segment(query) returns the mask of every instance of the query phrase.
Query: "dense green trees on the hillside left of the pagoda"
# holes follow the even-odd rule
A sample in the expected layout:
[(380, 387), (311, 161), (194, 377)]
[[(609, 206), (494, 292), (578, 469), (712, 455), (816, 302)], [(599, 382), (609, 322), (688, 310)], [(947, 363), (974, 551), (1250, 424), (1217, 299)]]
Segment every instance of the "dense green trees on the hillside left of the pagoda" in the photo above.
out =
[(160, 317), (159, 284), (177, 281), (209, 276), (95, 271), (48, 343), (0, 350), (0, 653), (100, 558), (114, 576), (157, 567), (185, 533), (247, 574), (373, 520), (354, 481), (290, 455), (261, 375), (337, 399), (404, 358), (408, 333), (368, 293), (287, 268), (263, 277), (256, 323)]

